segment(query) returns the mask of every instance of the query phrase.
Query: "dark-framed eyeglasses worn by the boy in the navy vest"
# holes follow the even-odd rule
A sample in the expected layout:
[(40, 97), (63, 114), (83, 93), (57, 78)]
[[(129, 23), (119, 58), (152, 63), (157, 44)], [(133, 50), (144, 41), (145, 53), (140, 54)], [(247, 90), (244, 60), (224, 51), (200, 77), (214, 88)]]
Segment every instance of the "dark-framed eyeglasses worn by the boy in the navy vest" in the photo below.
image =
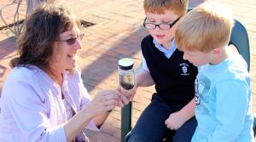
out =
[[(180, 18), (181, 16), (178, 17), (177, 20), (179, 20)], [(167, 23), (154, 24), (154, 23), (146, 23), (146, 20), (147, 20), (147, 17), (143, 22), (143, 26), (148, 30), (153, 30), (156, 28), (156, 26), (158, 26), (161, 30), (169, 30), (172, 28), (172, 26), (174, 26), (177, 23), (177, 20), (174, 20), (171, 24), (167, 24)]]

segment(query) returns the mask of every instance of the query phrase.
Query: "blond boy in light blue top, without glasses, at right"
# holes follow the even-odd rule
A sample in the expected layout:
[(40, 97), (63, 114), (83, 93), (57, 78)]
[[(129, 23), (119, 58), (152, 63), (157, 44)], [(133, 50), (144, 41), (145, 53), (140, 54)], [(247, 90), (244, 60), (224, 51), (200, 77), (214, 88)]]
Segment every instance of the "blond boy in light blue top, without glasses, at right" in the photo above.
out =
[(183, 59), (199, 66), (195, 81), (198, 126), (192, 142), (253, 142), (252, 91), (247, 64), (228, 47), (234, 21), (217, 3), (203, 3), (177, 26)]

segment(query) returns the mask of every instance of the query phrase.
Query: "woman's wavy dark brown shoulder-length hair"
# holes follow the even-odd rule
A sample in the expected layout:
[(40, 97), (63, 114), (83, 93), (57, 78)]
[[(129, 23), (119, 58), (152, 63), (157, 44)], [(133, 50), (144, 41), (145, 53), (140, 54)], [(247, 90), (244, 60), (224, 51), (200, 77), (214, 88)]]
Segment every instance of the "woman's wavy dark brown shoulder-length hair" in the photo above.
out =
[(43, 3), (32, 11), (25, 20), (25, 26), (17, 39), (20, 56), (10, 61), (10, 66), (37, 65), (49, 70), (49, 57), (59, 34), (78, 23), (69, 10), (57, 3)]

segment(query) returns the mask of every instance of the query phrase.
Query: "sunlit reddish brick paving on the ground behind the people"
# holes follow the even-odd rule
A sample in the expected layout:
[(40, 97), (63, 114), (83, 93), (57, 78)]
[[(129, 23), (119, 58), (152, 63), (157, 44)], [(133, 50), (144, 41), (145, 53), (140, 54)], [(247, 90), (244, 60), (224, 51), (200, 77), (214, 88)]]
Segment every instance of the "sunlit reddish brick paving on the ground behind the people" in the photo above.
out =
[[(122, 57), (132, 57), (135, 67), (141, 61), (140, 43), (148, 34), (143, 29), (143, 0), (76, 0), (60, 3), (73, 9), (81, 20), (94, 23), (94, 26), (83, 28), (85, 39), (80, 51), (80, 65), (84, 85), (93, 98), (99, 90), (115, 88), (118, 85), (117, 61)], [(195, 6), (203, 0), (190, 0)], [(256, 1), (254, 0), (218, 0), (233, 11), (237, 20), (246, 26), (251, 45), (251, 77), (253, 88), (253, 112), (256, 112)], [(0, 9), (10, 0), (0, 0)], [(17, 3), (3, 9), (4, 20), (14, 22)], [(26, 15), (25, 1), (20, 5), (20, 20)], [(0, 20), (0, 27), (3, 27)], [(16, 55), (15, 37), (7, 30), (0, 31), (0, 90), (10, 68), (9, 60)], [(254, 61), (253, 61), (254, 60)], [(139, 88), (133, 103), (132, 123), (148, 105), (154, 88)], [(1, 91), (0, 91), (1, 92)], [(227, 100), (228, 101), (228, 100)], [(101, 132), (87, 132), (92, 142), (119, 142), (120, 109), (113, 110)]]

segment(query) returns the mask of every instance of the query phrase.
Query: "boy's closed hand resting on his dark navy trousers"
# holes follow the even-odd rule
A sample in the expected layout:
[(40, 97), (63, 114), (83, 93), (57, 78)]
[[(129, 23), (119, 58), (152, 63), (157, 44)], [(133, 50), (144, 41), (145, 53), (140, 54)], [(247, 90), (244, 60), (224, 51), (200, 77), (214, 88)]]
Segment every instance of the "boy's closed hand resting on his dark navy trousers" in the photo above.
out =
[(177, 130), (180, 128), (185, 121), (183, 120), (183, 116), (177, 111), (172, 113), (168, 119), (166, 119), (166, 127), (171, 130)]

